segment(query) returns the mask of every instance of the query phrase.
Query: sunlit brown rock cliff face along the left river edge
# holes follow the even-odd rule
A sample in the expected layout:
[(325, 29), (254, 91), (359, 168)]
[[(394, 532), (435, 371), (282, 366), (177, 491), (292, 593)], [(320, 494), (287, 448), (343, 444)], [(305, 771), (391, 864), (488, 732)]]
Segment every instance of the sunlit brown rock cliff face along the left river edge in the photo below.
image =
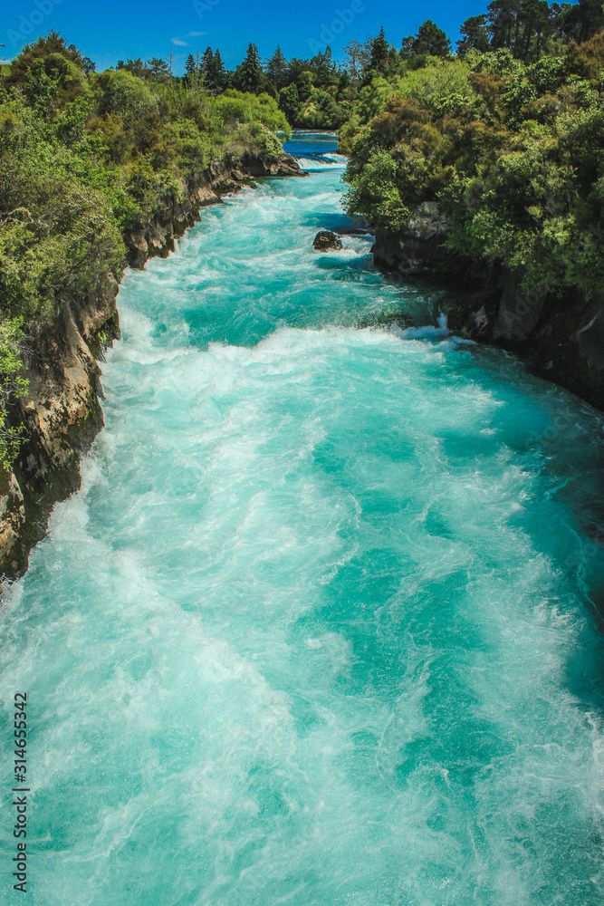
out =
[[(218, 204), (221, 194), (262, 176), (302, 173), (283, 154), (274, 159), (248, 155), (237, 169), (219, 164), (194, 174), (179, 198), (167, 199), (158, 217), (124, 237), (129, 265), (142, 267), (153, 255), (167, 256), (201, 207)], [(85, 297), (63, 302), (53, 323), (30, 338), (27, 394), (8, 413), (10, 424), (23, 426), (24, 442), (13, 470), (0, 470), (0, 574), (5, 578), (24, 573), (53, 505), (80, 487), (81, 453), (103, 426), (99, 361), (103, 349), (120, 336), (120, 278), (121, 273), (101, 275)]]

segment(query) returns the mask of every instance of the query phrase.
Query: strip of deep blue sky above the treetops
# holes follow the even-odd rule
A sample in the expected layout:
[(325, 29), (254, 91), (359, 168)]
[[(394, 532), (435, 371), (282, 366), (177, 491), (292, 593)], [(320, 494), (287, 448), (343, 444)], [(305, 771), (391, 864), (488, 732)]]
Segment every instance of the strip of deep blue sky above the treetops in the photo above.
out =
[(0, 42), (10, 59), (27, 41), (50, 29), (60, 32), (97, 64), (97, 70), (128, 57), (168, 57), (174, 53), (174, 72), (184, 71), (188, 53), (219, 47), (229, 69), (244, 57), (250, 41), (263, 59), (277, 43), (287, 57), (307, 57), (326, 41), (334, 57), (350, 40), (362, 41), (386, 29), (388, 41), (400, 44), (419, 24), (433, 19), (454, 42), (468, 15), (483, 13), (488, 0), (0, 0)]

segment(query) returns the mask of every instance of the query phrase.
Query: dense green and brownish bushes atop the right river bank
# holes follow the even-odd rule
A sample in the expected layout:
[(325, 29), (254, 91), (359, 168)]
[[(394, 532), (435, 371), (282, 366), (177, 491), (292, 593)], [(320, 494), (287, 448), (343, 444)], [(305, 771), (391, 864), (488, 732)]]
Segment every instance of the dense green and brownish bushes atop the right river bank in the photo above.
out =
[(604, 32), (591, 34), (604, 14), (537, 4), (540, 25), (521, 4), (524, 21), (503, 28), (503, 6), (489, 6), (488, 29), (486, 16), (465, 24), (455, 58), (361, 90), (341, 130), (349, 210), (398, 230), (432, 205), (456, 251), (543, 293), (590, 294), (604, 288)]

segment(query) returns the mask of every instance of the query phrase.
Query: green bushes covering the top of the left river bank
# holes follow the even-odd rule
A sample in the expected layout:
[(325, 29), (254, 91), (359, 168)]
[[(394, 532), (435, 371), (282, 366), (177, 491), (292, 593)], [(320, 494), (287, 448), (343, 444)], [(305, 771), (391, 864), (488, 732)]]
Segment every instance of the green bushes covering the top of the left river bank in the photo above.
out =
[(98, 74), (53, 33), (24, 48), (0, 80), (0, 461), (17, 446), (5, 405), (24, 390), (24, 336), (119, 279), (124, 234), (193, 173), (280, 153), (278, 130), (289, 125), (268, 94)]

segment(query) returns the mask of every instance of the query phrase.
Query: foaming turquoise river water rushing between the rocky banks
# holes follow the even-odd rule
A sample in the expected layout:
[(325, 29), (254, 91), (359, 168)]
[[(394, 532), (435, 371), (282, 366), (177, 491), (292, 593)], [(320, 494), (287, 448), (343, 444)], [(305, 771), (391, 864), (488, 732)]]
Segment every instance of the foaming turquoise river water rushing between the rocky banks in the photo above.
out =
[(106, 429), (5, 595), (30, 901), (601, 904), (604, 421), (368, 238), (313, 252), (307, 160), (126, 275)]

